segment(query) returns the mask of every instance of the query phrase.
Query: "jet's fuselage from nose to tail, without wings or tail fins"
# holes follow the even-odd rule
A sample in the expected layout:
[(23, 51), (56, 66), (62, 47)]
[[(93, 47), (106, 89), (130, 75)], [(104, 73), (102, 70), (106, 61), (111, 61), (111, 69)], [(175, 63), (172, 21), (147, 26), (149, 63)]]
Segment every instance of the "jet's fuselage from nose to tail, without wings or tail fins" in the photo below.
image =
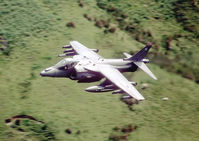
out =
[[(99, 59), (97, 64), (109, 64), (120, 72), (134, 72), (137, 66), (131, 61), (124, 59)], [(85, 65), (92, 64), (87, 58), (78, 55), (73, 58), (64, 58), (56, 65), (43, 70), (40, 75), (43, 77), (63, 77), (77, 80), (79, 83), (89, 83), (99, 81), (104, 78), (100, 73), (94, 73), (84, 68)]]

